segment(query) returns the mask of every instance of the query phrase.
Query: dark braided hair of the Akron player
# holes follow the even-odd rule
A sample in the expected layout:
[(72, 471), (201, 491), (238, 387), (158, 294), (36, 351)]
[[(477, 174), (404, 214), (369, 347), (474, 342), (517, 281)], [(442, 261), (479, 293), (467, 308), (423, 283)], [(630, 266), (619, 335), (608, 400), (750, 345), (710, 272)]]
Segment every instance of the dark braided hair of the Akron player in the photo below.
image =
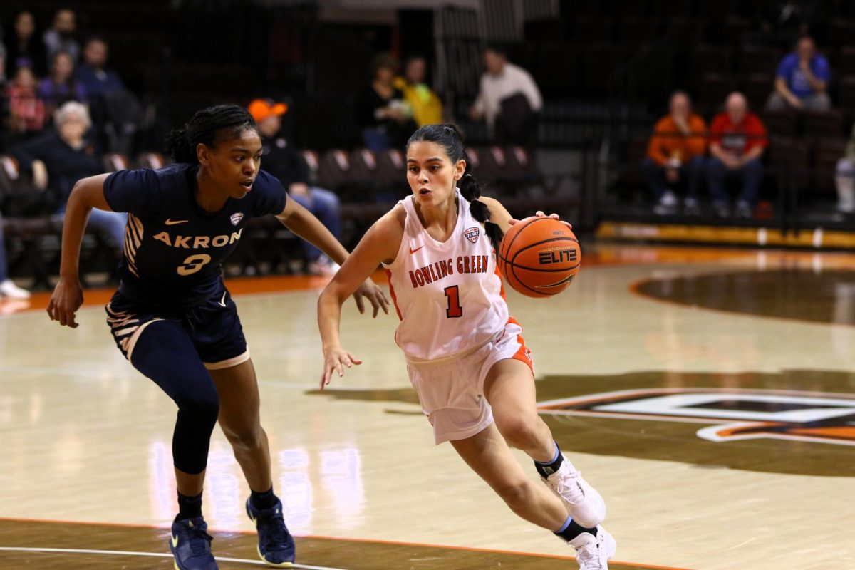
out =
[(213, 148), (217, 143), (237, 138), (245, 129), (258, 131), (250, 112), (238, 105), (214, 105), (198, 111), (184, 126), (166, 138), (166, 150), (174, 162), (198, 164), (198, 144)]

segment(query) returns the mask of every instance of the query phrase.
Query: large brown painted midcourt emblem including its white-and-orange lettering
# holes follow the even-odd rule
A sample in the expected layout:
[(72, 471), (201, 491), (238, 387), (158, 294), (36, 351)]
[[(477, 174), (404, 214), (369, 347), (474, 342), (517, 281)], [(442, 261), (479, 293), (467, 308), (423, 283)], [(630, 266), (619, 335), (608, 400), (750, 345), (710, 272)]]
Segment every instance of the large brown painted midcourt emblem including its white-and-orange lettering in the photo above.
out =
[[(536, 385), (540, 417), (570, 454), (855, 477), (855, 374), (848, 370), (644, 370), (550, 375)], [(423, 420), (411, 388), (313, 393), (412, 404), (389, 413)]]

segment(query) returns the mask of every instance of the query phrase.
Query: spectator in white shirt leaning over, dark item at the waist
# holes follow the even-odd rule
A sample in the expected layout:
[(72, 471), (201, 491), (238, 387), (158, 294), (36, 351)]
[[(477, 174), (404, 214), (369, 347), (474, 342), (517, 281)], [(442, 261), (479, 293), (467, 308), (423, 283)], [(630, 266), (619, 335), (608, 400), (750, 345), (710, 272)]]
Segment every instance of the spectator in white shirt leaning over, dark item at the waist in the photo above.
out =
[(472, 120), (485, 120), (487, 132), (504, 142), (530, 145), (536, 134), (537, 115), (543, 97), (532, 76), (508, 62), (504, 49), (492, 45), (484, 50), (486, 72), (475, 104), (469, 109)]

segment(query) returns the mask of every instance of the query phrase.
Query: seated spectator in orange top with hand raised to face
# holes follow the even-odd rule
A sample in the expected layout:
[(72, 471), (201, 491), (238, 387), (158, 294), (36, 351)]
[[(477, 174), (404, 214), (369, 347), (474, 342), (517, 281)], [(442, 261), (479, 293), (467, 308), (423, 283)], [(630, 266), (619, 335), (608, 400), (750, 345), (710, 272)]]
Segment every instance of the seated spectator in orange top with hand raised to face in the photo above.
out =
[(657, 200), (653, 208), (657, 214), (676, 213), (677, 197), (669, 185), (681, 179), (687, 181), (686, 213), (700, 214), (698, 199), (704, 178), (705, 135), (704, 120), (692, 113), (688, 95), (675, 91), (669, 102), (669, 115), (657, 121), (647, 144), (647, 156), (641, 162), (647, 184)]

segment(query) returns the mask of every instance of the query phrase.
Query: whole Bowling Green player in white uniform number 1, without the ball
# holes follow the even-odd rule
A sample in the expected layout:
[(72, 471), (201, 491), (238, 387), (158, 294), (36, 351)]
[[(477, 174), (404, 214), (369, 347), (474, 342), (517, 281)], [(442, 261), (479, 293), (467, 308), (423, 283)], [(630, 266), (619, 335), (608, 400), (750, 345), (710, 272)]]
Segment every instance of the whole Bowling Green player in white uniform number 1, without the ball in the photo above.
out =
[[(365, 233), (318, 301), (321, 388), (361, 362), (339, 342), (341, 305), (382, 263), (401, 319), (395, 340), (436, 443), (450, 441), (511, 510), (574, 546), (582, 570), (606, 569), (615, 540), (599, 526), (605, 503), (537, 413), (531, 356), (496, 269), (516, 220), (479, 199), (466, 169), (457, 127), (422, 126), (410, 137), (412, 196)], [(528, 479), (506, 441), (531, 456), (551, 491)]]

